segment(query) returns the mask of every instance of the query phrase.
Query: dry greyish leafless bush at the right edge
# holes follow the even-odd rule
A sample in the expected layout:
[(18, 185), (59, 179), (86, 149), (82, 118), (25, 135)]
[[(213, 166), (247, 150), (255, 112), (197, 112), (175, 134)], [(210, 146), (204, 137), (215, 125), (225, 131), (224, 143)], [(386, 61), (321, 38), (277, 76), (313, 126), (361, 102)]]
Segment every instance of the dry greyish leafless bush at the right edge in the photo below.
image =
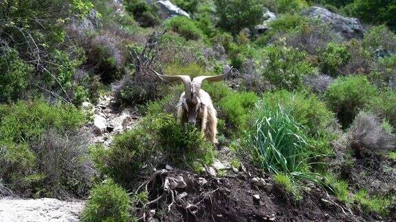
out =
[(349, 145), (358, 156), (371, 156), (373, 153), (392, 149), (395, 136), (383, 129), (377, 116), (359, 112), (348, 129)]

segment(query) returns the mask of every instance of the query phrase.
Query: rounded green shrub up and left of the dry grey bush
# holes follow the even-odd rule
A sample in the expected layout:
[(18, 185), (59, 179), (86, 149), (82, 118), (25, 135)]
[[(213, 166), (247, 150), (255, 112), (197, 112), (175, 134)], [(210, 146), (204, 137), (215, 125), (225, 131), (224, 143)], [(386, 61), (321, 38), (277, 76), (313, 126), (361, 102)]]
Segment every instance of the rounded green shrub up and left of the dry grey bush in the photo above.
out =
[(342, 127), (346, 129), (355, 119), (359, 110), (364, 108), (377, 94), (377, 88), (364, 76), (349, 75), (338, 77), (330, 84), (325, 94), (329, 108), (336, 112)]

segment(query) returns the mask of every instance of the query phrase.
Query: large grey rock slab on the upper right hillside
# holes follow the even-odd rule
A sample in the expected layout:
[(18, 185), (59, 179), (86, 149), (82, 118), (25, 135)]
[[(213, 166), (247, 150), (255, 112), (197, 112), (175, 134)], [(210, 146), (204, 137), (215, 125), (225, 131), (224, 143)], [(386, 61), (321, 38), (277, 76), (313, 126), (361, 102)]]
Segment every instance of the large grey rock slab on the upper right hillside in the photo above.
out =
[(316, 18), (320, 22), (328, 25), (331, 30), (344, 38), (363, 38), (364, 27), (358, 18), (344, 17), (340, 14), (314, 6), (302, 12), (303, 16)]

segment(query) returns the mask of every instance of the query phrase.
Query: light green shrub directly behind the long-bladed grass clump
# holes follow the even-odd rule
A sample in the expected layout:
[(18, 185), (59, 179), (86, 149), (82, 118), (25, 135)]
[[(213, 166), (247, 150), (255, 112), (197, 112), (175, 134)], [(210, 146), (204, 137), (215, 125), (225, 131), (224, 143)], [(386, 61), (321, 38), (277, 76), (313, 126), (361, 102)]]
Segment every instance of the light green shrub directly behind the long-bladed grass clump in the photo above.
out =
[(311, 136), (325, 132), (335, 117), (327, 110), (325, 103), (313, 94), (280, 90), (264, 93), (263, 99), (273, 109), (280, 104), (283, 108), (290, 110), (290, 115), (303, 125)]

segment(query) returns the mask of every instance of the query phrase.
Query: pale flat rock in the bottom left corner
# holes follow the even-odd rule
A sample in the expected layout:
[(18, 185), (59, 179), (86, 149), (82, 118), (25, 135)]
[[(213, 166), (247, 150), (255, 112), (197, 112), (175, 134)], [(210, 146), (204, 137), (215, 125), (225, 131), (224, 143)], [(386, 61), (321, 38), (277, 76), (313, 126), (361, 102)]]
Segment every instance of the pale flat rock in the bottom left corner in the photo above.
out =
[(79, 221), (83, 201), (0, 199), (0, 221)]

